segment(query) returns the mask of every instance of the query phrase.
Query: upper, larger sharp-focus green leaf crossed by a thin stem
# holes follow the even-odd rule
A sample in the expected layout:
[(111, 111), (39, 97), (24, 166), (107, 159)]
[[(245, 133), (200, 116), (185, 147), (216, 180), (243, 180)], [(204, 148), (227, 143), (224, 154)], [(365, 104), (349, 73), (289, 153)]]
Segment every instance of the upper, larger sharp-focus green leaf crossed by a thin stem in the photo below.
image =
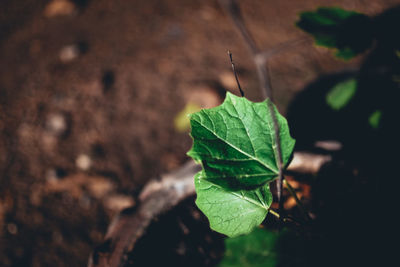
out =
[[(277, 141), (268, 104), (273, 105), (270, 100), (253, 103), (227, 93), (222, 105), (191, 115), (193, 147), (188, 155), (202, 163), (209, 181), (242, 189), (277, 178)], [(290, 137), (286, 119), (273, 107), (286, 164), (295, 140)]]

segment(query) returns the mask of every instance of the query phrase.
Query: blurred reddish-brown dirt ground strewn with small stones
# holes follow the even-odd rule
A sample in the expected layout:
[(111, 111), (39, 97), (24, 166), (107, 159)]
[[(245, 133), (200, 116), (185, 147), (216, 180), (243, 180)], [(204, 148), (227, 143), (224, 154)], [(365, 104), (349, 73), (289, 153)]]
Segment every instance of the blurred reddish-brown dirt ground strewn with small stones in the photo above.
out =
[[(266, 50), (305, 35), (297, 14), (381, 1), (240, 1)], [(246, 47), (217, 1), (5, 0), (0, 4), (0, 266), (85, 266), (150, 178), (187, 160), (174, 118), (188, 99), (261, 100)], [(358, 66), (306, 41), (271, 61), (278, 107), (321, 74)], [(215, 93), (216, 94), (216, 93)], [(194, 96), (193, 96), (194, 95)], [(200, 96), (203, 95), (203, 96)]]

